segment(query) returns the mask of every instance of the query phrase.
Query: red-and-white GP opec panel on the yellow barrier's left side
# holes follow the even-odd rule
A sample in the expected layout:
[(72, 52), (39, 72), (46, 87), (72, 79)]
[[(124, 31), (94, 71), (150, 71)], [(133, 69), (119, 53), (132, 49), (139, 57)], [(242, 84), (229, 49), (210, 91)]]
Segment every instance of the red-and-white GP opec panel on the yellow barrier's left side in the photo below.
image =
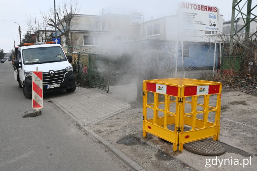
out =
[(148, 83), (146, 82), (146, 91), (156, 92), (160, 94), (168, 94), (171, 96), (178, 96), (178, 87), (156, 84), (156, 83)]

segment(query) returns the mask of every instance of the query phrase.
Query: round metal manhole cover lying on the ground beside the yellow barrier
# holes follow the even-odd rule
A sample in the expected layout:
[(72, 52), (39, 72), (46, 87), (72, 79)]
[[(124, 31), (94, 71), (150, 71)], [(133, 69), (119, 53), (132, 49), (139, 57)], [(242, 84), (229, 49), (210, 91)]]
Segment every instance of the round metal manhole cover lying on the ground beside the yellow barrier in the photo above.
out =
[(226, 152), (221, 143), (212, 139), (202, 139), (199, 141), (186, 143), (183, 147), (188, 151), (205, 156), (219, 156)]

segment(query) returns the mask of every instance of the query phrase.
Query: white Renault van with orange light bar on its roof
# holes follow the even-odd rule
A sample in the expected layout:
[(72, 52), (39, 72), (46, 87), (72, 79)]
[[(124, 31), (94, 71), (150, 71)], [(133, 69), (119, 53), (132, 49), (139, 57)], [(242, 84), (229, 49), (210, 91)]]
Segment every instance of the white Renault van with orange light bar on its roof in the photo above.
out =
[[(16, 51), (17, 60), (14, 66), (14, 79), (23, 88), (25, 98), (31, 98), (31, 71), (43, 72), (43, 92), (66, 90), (74, 92), (76, 83), (71, 66), (72, 57), (65, 56), (59, 44), (48, 44), (54, 42), (40, 42), (23, 44)], [(30, 44), (33, 44), (29, 46)]]

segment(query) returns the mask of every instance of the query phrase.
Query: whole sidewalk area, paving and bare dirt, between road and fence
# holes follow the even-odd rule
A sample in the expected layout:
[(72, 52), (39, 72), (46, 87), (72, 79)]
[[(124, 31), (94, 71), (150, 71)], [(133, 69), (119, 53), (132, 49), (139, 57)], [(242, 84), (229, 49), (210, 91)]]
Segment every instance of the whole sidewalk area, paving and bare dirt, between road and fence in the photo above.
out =
[(222, 93), (220, 141), (227, 151), (218, 158), (238, 159), (242, 164), (244, 158), (251, 157), (251, 165), (245, 168), (228, 163), (206, 168), (206, 159), (215, 159), (215, 156), (202, 156), (186, 149), (173, 152), (171, 145), (155, 136), (148, 134), (143, 138), (142, 108), (130, 108), (128, 104), (136, 99), (135, 84), (110, 87), (108, 94), (99, 89), (77, 88), (74, 93), (60, 92), (49, 99), (133, 170), (250, 171), (257, 167), (256, 96), (242, 92)]

